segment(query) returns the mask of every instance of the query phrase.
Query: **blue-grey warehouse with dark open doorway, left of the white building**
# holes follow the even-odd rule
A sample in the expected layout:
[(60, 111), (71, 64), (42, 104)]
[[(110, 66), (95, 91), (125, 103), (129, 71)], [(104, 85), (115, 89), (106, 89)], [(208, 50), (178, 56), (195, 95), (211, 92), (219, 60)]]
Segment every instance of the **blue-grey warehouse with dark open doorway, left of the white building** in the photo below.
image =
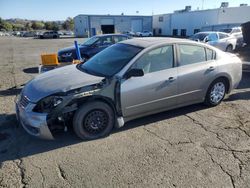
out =
[(127, 31), (152, 31), (152, 16), (78, 15), (74, 18), (77, 37)]

